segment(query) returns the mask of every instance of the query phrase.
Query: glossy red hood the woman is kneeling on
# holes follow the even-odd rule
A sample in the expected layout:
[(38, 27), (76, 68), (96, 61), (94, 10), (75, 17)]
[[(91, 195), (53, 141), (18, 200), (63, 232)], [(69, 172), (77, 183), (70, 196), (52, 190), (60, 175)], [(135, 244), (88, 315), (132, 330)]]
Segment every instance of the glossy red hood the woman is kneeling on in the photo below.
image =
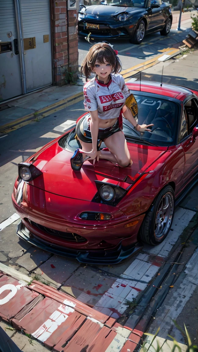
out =
[(62, 149), (58, 143), (46, 147), (27, 161), (41, 172), (29, 183), (53, 194), (74, 199), (91, 201), (97, 193), (95, 180), (118, 184), (127, 188), (134, 183), (157, 158), (166, 152), (165, 148), (128, 144), (133, 164), (126, 168), (114, 166), (107, 160), (86, 161), (81, 170), (75, 172), (70, 165), (73, 153)]

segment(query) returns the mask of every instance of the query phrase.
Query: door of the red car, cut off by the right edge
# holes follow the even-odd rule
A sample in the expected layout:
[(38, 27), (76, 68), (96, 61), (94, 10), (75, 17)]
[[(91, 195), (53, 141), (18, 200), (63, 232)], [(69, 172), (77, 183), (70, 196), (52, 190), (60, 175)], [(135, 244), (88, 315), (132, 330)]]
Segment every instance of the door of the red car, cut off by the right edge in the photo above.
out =
[(184, 104), (184, 111), (187, 122), (187, 136), (181, 141), (185, 153), (184, 183), (187, 183), (198, 172), (198, 100), (191, 98)]

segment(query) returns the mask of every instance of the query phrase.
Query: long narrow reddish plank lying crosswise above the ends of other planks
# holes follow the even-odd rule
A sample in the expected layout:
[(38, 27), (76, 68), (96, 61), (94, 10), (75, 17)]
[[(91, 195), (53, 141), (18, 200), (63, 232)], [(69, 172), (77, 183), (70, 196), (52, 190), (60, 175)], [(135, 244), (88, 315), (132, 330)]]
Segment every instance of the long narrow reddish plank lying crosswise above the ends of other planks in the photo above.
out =
[(67, 306), (74, 307), (75, 310), (81, 314), (87, 315), (90, 318), (96, 319), (101, 323), (105, 323), (109, 316), (88, 307), (86, 304), (76, 300), (76, 298), (69, 296), (63, 292), (57, 291), (55, 288), (41, 284), (38, 281), (32, 281), (29, 286), (32, 290), (52, 298), (57, 302), (66, 304)]

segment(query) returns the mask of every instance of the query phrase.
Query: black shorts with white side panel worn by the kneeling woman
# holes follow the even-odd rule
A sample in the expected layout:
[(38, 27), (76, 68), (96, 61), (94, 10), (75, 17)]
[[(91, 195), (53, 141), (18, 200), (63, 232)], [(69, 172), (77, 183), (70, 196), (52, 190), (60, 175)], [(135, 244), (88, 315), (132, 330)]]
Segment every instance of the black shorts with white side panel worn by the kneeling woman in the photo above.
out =
[[(112, 134), (122, 131), (118, 126), (118, 120), (116, 123), (107, 128), (99, 128), (98, 130), (98, 142), (104, 141), (105, 138), (112, 136)], [(85, 143), (92, 143), (92, 136), (90, 126), (87, 122), (87, 117), (83, 116), (76, 124), (76, 136)]]

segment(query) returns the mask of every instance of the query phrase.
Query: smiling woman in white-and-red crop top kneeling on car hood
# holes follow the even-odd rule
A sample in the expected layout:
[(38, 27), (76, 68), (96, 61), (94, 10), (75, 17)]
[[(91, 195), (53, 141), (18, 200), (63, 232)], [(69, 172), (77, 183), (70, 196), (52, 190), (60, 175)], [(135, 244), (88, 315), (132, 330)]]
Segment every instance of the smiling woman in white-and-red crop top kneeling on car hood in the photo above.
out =
[[(121, 129), (122, 114), (137, 131), (150, 131), (148, 127), (153, 126), (138, 125), (131, 110), (125, 105), (131, 94), (124, 78), (118, 74), (120, 70), (116, 51), (107, 43), (94, 44), (82, 62), (81, 72), (86, 76), (86, 81), (91, 73), (95, 73), (95, 77), (83, 89), (84, 106), (90, 117), (82, 117), (76, 125), (76, 138), (82, 146), (79, 152), (84, 155), (81, 163), (88, 158), (94, 159), (95, 163), (100, 158), (122, 167), (132, 164)], [(109, 151), (99, 150), (100, 141), (104, 141)], [(78, 156), (77, 159), (77, 164), (80, 165)]]

